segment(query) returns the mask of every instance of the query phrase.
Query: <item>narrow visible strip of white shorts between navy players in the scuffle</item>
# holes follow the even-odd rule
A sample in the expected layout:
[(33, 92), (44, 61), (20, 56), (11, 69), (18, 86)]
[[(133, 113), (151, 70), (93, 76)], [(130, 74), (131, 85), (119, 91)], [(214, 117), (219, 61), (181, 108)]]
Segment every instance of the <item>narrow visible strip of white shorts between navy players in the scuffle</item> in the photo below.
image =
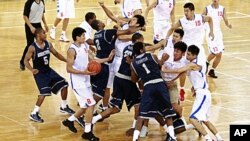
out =
[(113, 88), (113, 82), (115, 74), (118, 72), (121, 65), (121, 57), (114, 58), (113, 62), (109, 65), (109, 80), (107, 84), (107, 88)]

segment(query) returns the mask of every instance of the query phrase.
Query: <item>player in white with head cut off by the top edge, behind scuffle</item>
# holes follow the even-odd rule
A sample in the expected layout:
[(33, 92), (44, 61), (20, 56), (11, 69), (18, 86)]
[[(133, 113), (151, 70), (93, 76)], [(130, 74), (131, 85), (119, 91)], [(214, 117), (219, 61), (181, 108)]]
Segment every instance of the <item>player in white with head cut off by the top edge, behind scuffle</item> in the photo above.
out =
[(170, 21), (172, 25), (175, 23), (175, 0), (154, 0), (145, 10), (145, 19), (147, 20), (149, 11), (154, 12), (154, 44), (166, 38), (167, 32), (170, 29)]

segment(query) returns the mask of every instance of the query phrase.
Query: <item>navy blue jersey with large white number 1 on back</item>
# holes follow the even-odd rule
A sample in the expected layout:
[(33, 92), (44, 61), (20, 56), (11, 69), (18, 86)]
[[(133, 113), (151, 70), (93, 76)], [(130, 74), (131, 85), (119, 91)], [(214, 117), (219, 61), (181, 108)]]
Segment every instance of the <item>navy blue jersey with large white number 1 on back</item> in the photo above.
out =
[(144, 83), (154, 79), (162, 79), (159, 65), (151, 53), (137, 56), (132, 63), (132, 67)]

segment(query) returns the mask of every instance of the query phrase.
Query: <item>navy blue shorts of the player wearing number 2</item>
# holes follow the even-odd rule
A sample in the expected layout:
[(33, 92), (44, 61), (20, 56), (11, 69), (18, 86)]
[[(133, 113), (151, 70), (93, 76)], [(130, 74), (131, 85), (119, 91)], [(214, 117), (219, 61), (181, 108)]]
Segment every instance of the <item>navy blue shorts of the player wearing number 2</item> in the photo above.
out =
[(101, 72), (90, 78), (93, 93), (103, 98), (109, 80), (109, 66), (102, 64)]

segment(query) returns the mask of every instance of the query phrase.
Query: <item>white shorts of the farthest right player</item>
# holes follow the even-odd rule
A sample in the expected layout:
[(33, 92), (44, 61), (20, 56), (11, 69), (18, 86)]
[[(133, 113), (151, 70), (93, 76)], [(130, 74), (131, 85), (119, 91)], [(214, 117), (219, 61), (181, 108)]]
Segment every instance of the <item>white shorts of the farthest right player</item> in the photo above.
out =
[(208, 45), (208, 50), (212, 54), (218, 54), (224, 51), (223, 36), (221, 31), (214, 33), (214, 40), (209, 38), (208, 33), (206, 34), (206, 41)]

